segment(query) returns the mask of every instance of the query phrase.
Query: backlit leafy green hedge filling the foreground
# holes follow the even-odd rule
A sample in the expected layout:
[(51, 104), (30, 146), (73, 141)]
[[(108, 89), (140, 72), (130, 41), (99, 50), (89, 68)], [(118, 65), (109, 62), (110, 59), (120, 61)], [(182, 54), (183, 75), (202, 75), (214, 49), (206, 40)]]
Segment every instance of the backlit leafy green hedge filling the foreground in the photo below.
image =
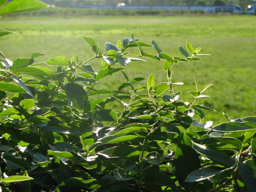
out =
[[(45, 6), (5, 3), (0, 16)], [(201, 48), (186, 41), (188, 51), (179, 46), (181, 57), (170, 57), (154, 40), (146, 44), (132, 33), (116, 45), (107, 42), (103, 52), (91, 37), (83, 39), (95, 53), (86, 61), (76, 55), (35, 63), (44, 53), (33, 53), (12, 62), (0, 52), (0, 116), (6, 117), (0, 122), (1, 191), (255, 191), (256, 117), (224, 114), (230, 122), (212, 127), (204, 110), (215, 110), (198, 103), (209, 97), (202, 93), (211, 84), (201, 88), (195, 78), (192, 103), (175, 91), (183, 83), (172, 82), (172, 66), (200, 60)], [(137, 87), (145, 78), (131, 80), (122, 69), (147, 57), (163, 61), (166, 82), (156, 85), (152, 73), (145, 87)], [(89, 65), (94, 59), (102, 65), (98, 72)], [(96, 88), (116, 72), (127, 80), (118, 90)], [(113, 103), (123, 110), (112, 110)]]

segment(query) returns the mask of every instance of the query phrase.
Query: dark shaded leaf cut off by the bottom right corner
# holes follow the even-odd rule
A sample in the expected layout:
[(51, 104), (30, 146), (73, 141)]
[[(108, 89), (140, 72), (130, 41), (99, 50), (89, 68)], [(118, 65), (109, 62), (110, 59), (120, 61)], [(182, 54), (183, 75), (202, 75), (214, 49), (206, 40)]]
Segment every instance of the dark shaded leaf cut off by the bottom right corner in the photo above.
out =
[(238, 170), (246, 187), (250, 190), (250, 192), (254, 192), (256, 186), (256, 160), (248, 159), (244, 162), (239, 161)]

